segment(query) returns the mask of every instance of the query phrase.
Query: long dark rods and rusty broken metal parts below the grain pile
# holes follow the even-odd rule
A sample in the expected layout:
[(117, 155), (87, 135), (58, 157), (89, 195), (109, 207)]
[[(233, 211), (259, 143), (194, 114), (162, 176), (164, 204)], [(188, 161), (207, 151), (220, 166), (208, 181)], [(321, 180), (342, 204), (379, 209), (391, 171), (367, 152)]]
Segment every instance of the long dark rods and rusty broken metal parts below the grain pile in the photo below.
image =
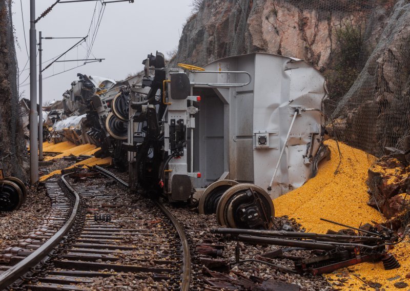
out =
[[(315, 257), (291, 258), (295, 259), (295, 268), (301, 274), (308, 272), (312, 275), (320, 275), (362, 262), (378, 260), (383, 261), (385, 269), (400, 267), (392, 254), (386, 254), (386, 245), (396, 243), (398, 237), (388, 231), (376, 233), (373, 227), (370, 230), (364, 231), (364, 236), (230, 228), (218, 228), (212, 232), (233, 235), (236, 240), (254, 244), (273, 244), (315, 250), (317, 255)], [(270, 257), (271, 254), (268, 256)], [(278, 257), (281, 254), (274, 252), (272, 256)]]

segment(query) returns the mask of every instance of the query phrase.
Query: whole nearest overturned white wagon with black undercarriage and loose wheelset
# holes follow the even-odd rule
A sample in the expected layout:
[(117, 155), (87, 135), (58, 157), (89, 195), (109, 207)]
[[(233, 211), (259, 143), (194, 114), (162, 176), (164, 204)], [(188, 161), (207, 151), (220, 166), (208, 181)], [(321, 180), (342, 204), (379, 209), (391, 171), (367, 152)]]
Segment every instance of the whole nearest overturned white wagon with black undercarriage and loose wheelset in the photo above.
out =
[(143, 64), (142, 86), (130, 89), (134, 188), (170, 201), (203, 192), (200, 212), (217, 212), (221, 224), (268, 227), (272, 198), (302, 185), (323, 156), (323, 76), (266, 53), (185, 71), (164, 68), (160, 53)]

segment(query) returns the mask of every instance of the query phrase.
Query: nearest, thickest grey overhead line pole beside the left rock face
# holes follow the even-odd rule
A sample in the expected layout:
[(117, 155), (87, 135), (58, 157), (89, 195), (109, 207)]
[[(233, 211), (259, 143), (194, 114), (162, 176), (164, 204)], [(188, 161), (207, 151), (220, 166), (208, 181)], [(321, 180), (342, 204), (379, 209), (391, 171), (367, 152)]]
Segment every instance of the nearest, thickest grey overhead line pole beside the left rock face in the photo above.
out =
[(35, 0), (30, 0), (30, 183), (32, 185), (38, 181), (36, 44)]

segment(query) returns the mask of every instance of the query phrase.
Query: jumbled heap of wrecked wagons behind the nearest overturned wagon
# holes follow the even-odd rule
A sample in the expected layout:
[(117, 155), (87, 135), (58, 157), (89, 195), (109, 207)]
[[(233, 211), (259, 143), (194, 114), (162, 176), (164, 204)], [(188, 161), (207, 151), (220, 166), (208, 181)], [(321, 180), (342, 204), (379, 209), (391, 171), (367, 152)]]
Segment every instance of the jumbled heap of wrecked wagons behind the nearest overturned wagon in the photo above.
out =
[(128, 113), (126, 118), (114, 113), (118, 106), (127, 106), (128, 110), (128, 103), (122, 105), (120, 101), (128, 98), (130, 82), (138, 77), (116, 82), (98, 76), (77, 76), (79, 80), (73, 81), (71, 89), (63, 94), (64, 110), (49, 116), (51, 138), (96, 144), (101, 148), (95, 153), (97, 157), (112, 156), (118, 168), (126, 169), (127, 152), (122, 149), (122, 141), (128, 137)]

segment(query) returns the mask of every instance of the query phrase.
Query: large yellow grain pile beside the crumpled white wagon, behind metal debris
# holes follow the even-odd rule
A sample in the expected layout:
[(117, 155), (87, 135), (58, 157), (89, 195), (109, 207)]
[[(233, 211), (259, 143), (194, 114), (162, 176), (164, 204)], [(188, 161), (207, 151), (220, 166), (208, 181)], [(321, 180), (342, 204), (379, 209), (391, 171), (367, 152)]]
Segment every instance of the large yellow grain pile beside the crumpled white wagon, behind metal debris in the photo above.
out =
[(327, 140), (325, 144), (331, 150), (331, 159), (321, 162), (316, 177), (300, 188), (275, 199), (275, 215), (293, 217), (307, 231), (316, 233), (337, 231), (341, 228), (321, 221), (320, 218), (355, 227), (371, 220), (384, 221), (378, 211), (366, 204), (369, 198), (365, 183), (367, 169), (374, 157), (339, 142), (339, 165), (336, 142)]

